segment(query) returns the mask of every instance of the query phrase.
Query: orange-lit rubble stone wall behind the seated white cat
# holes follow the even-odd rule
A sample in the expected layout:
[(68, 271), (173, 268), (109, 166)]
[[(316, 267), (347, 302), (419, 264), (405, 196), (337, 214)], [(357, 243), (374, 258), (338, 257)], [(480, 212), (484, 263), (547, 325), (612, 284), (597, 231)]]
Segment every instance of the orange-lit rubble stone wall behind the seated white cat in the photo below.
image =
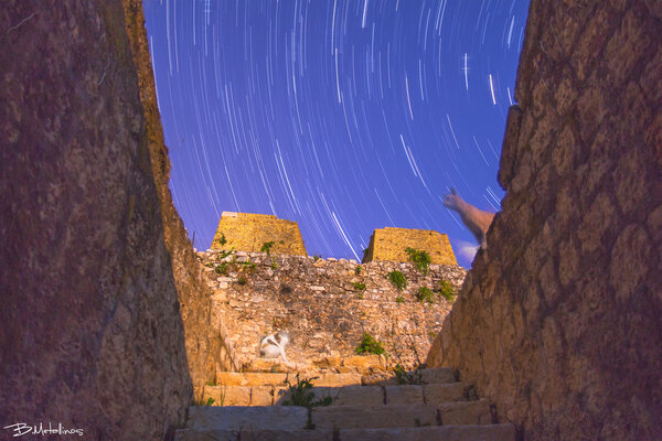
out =
[[(412, 365), (418, 352), (423, 362), (450, 303), (437, 292), (433, 303), (420, 302), (418, 290), (437, 290), (441, 279), (459, 288), (466, 273), (457, 266), (433, 265), (424, 276), (410, 262), (359, 265), (217, 250), (197, 255), (214, 291), (214, 310), (233, 330), (227, 345), (244, 367), (257, 357), (260, 338), (279, 330), (290, 332), (288, 358), (299, 364), (355, 355), (363, 332), (383, 343), (395, 361), (399, 355)], [(386, 277), (395, 269), (407, 279), (402, 292)]]

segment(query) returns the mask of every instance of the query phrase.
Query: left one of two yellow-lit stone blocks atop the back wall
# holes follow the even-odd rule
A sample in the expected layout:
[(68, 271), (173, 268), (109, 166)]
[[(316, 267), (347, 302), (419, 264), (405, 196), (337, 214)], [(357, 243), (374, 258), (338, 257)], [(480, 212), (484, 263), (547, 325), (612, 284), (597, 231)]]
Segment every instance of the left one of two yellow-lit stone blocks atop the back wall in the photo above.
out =
[(269, 243), (273, 254), (308, 256), (299, 225), (268, 214), (223, 212), (210, 248), (259, 252)]

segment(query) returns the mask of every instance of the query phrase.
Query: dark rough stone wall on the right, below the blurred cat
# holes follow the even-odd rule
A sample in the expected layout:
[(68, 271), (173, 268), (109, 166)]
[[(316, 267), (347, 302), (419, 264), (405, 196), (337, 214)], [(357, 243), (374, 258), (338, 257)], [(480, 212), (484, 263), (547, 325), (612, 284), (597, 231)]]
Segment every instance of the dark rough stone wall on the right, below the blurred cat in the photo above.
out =
[(662, 3), (533, 0), (508, 191), (428, 362), (525, 440), (662, 439)]

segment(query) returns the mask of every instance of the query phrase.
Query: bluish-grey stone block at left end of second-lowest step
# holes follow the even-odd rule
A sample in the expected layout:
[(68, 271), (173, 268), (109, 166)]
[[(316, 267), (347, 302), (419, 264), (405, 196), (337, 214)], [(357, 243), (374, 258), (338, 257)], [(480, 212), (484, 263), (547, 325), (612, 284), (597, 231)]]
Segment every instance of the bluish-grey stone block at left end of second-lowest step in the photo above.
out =
[(302, 430), (308, 422), (308, 409), (296, 406), (189, 408), (188, 429), (194, 430)]

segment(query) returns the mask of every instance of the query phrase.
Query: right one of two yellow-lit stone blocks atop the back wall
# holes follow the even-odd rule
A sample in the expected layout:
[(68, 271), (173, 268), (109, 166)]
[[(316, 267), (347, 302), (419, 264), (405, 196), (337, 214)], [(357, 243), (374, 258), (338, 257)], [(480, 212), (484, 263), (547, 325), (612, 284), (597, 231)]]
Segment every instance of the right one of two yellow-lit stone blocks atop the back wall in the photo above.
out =
[(407, 248), (427, 251), (436, 265), (458, 265), (448, 236), (430, 229), (385, 227), (375, 229), (363, 255), (363, 262), (408, 261)]

